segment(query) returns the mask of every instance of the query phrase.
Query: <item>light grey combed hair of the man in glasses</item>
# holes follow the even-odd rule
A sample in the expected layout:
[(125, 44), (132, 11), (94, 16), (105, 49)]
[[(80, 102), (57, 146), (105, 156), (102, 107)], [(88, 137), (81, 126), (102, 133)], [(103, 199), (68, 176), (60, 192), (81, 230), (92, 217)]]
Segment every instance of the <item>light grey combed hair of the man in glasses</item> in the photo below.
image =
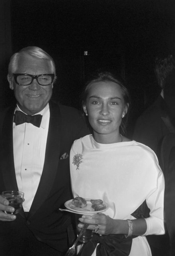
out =
[[(18, 60), (22, 55), (30, 55), (34, 58), (48, 60), (50, 62), (52, 73), (55, 74), (56, 76), (54, 60), (47, 52), (45, 52), (44, 50), (36, 46), (28, 46), (28, 47), (22, 48), (19, 52), (16, 52), (15, 54), (12, 55), (12, 57), (10, 58), (10, 63), (8, 65), (8, 74), (10, 76), (12, 76), (12, 73), (16, 72), (18, 68)], [(54, 78), (54, 80), (55, 79), (56, 77)]]

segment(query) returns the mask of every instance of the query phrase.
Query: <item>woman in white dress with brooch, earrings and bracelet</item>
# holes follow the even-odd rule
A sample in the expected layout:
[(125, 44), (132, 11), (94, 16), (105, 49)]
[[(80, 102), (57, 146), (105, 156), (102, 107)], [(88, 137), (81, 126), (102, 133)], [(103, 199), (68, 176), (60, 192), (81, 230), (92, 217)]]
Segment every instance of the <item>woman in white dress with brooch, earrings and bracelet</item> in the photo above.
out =
[[(74, 197), (101, 199), (109, 208), (79, 218), (79, 228), (88, 223), (97, 233), (81, 255), (151, 256), (145, 236), (165, 233), (164, 178), (157, 157), (149, 147), (122, 135), (129, 96), (111, 73), (98, 73), (84, 95), (83, 110), (93, 131), (72, 146), (72, 192)], [(133, 212), (144, 202), (149, 215), (135, 217)]]

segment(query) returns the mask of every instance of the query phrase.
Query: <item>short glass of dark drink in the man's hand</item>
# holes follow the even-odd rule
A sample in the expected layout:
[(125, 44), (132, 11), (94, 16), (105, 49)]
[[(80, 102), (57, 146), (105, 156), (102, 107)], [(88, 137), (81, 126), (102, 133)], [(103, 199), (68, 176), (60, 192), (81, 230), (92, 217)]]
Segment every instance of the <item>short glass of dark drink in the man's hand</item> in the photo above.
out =
[(22, 202), (24, 200), (24, 193), (14, 190), (3, 191), (2, 196), (9, 201), (9, 206), (15, 208), (14, 212), (6, 212), (8, 214), (17, 214), (22, 208)]

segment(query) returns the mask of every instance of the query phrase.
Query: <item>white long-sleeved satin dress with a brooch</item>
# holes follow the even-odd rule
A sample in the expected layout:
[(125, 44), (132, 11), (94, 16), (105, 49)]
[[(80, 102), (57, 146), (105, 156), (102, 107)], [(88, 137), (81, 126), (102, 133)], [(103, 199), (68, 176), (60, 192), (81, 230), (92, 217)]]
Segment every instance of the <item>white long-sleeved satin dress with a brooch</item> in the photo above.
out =
[(151, 256), (145, 236), (165, 233), (165, 184), (155, 153), (139, 142), (101, 144), (87, 135), (72, 145), (70, 174), (74, 197), (102, 199), (109, 204), (103, 213), (114, 219), (134, 219), (131, 214), (146, 199), (147, 230), (133, 239), (129, 256)]

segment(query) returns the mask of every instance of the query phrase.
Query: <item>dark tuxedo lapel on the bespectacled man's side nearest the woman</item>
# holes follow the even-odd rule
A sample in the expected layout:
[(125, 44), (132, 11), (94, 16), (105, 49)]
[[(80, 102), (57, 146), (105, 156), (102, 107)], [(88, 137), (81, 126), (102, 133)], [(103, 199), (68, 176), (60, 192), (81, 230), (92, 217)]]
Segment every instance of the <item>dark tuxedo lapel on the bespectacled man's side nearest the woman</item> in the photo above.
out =
[(60, 110), (58, 105), (50, 103), (50, 122), (48, 130), (48, 138), (46, 143), (46, 154), (44, 160), (43, 172), (38, 186), (38, 190), (34, 197), (28, 218), (44, 203), (52, 189), (55, 176), (58, 170), (59, 154), (60, 154)]

